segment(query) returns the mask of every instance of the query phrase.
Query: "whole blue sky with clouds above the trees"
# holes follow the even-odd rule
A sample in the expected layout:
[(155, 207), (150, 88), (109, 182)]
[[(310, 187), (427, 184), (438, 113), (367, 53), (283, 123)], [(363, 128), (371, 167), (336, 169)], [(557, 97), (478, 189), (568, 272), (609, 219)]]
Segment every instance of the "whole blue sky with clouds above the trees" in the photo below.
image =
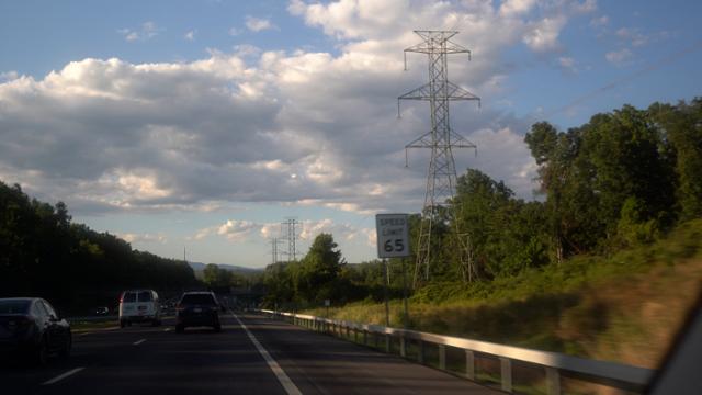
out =
[[(702, 95), (702, 2), (92, 0), (0, 2), (0, 181), (66, 202), (139, 250), (262, 268), (296, 218), (298, 253), (331, 233), (376, 258), (375, 214), (418, 213), (427, 81), (403, 50), (455, 30), (456, 169), (537, 199), (523, 143), (624, 104)], [(279, 250), (286, 250), (286, 244)], [(280, 257), (282, 260), (287, 257)]]

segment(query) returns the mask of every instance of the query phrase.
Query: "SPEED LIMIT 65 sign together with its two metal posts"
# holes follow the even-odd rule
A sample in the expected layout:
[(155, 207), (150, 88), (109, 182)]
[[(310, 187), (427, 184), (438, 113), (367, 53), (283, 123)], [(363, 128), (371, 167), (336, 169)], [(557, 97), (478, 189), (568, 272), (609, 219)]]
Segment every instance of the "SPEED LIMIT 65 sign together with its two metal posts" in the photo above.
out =
[[(409, 216), (407, 214), (376, 214), (375, 232), (377, 239), (377, 257), (383, 259), (384, 287), (385, 287), (385, 326), (389, 326), (388, 302), (388, 266), (386, 258), (409, 257)], [(403, 261), (403, 298), (405, 312), (403, 325), (407, 328), (407, 281), (405, 280), (405, 262)]]

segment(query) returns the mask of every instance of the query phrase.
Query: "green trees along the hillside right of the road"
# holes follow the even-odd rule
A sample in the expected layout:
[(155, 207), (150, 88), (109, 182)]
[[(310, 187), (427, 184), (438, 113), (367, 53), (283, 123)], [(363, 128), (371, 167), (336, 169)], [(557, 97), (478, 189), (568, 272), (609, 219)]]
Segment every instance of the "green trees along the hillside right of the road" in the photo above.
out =
[[(518, 199), (502, 181), (476, 169), (461, 174), (453, 202), (457, 217), (439, 211), (433, 221), (430, 282), (467, 280), (452, 232), (456, 221), (469, 236), (464, 241), (471, 256), (464, 258), (474, 262), (478, 281), (490, 281), (576, 255), (648, 244), (702, 217), (702, 98), (647, 110), (624, 105), (566, 132), (540, 122), (524, 142), (539, 166), (542, 199)], [(419, 224), (419, 214), (411, 215), (412, 251)], [(341, 252), (333, 252), (331, 235), (320, 237), (301, 261), (267, 268), (269, 305), (382, 297), (380, 261), (346, 264)], [(415, 257), (389, 260), (395, 295), (401, 266), (411, 279), (414, 263)]]

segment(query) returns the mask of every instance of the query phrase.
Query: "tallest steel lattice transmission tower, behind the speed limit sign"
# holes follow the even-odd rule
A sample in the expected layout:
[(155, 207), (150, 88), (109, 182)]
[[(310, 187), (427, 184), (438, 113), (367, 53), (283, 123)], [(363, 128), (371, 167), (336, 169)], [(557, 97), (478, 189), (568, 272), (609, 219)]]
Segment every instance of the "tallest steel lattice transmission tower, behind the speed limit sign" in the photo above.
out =
[[(454, 224), (456, 240), (458, 240), (461, 269), (463, 278), (472, 281), (476, 275), (471, 255), (471, 241), (468, 235), (462, 232), (458, 208), (452, 204), (456, 189), (456, 168), (453, 159), (454, 148), (473, 148), (475, 144), (451, 129), (449, 117), (449, 103), (452, 100), (477, 100), (479, 98), (465, 89), (449, 81), (449, 54), (468, 54), (471, 52), (453, 42), (451, 37), (455, 31), (415, 31), (423, 42), (405, 49), (405, 69), (407, 69), (407, 53), (427, 54), (429, 57), (429, 82), (397, 98), (397, 112), (399, 116), (400, 100), (426, 100), (431, 109), (431, 129), (405, 146), (405, 160), (407, 161), (408, 148), (430, 148), (431, 159), (427, 174), (427, 192), (422, 208), (421, 225), (417, 245), (417, 262), (415, 264), (414, 285), (420, 281), (421, 271), (424, 279), (429, 279), (431, 263), (431, 236), (435, 222), (440, 218), (441, 211), (446, 211)], [(406, 162), (407, 166), (407, 162)]]

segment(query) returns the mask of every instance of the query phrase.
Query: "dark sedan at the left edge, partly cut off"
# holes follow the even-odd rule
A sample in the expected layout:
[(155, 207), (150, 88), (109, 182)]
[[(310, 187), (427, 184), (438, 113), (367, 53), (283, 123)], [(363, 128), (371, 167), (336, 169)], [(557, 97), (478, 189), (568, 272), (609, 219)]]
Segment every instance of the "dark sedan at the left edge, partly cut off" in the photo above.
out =
[(10, 356), (44, 365), (50, 353), (68, 358), (70, 325), (54, 307), (38, 297), (0, 298), (0, 356)]

